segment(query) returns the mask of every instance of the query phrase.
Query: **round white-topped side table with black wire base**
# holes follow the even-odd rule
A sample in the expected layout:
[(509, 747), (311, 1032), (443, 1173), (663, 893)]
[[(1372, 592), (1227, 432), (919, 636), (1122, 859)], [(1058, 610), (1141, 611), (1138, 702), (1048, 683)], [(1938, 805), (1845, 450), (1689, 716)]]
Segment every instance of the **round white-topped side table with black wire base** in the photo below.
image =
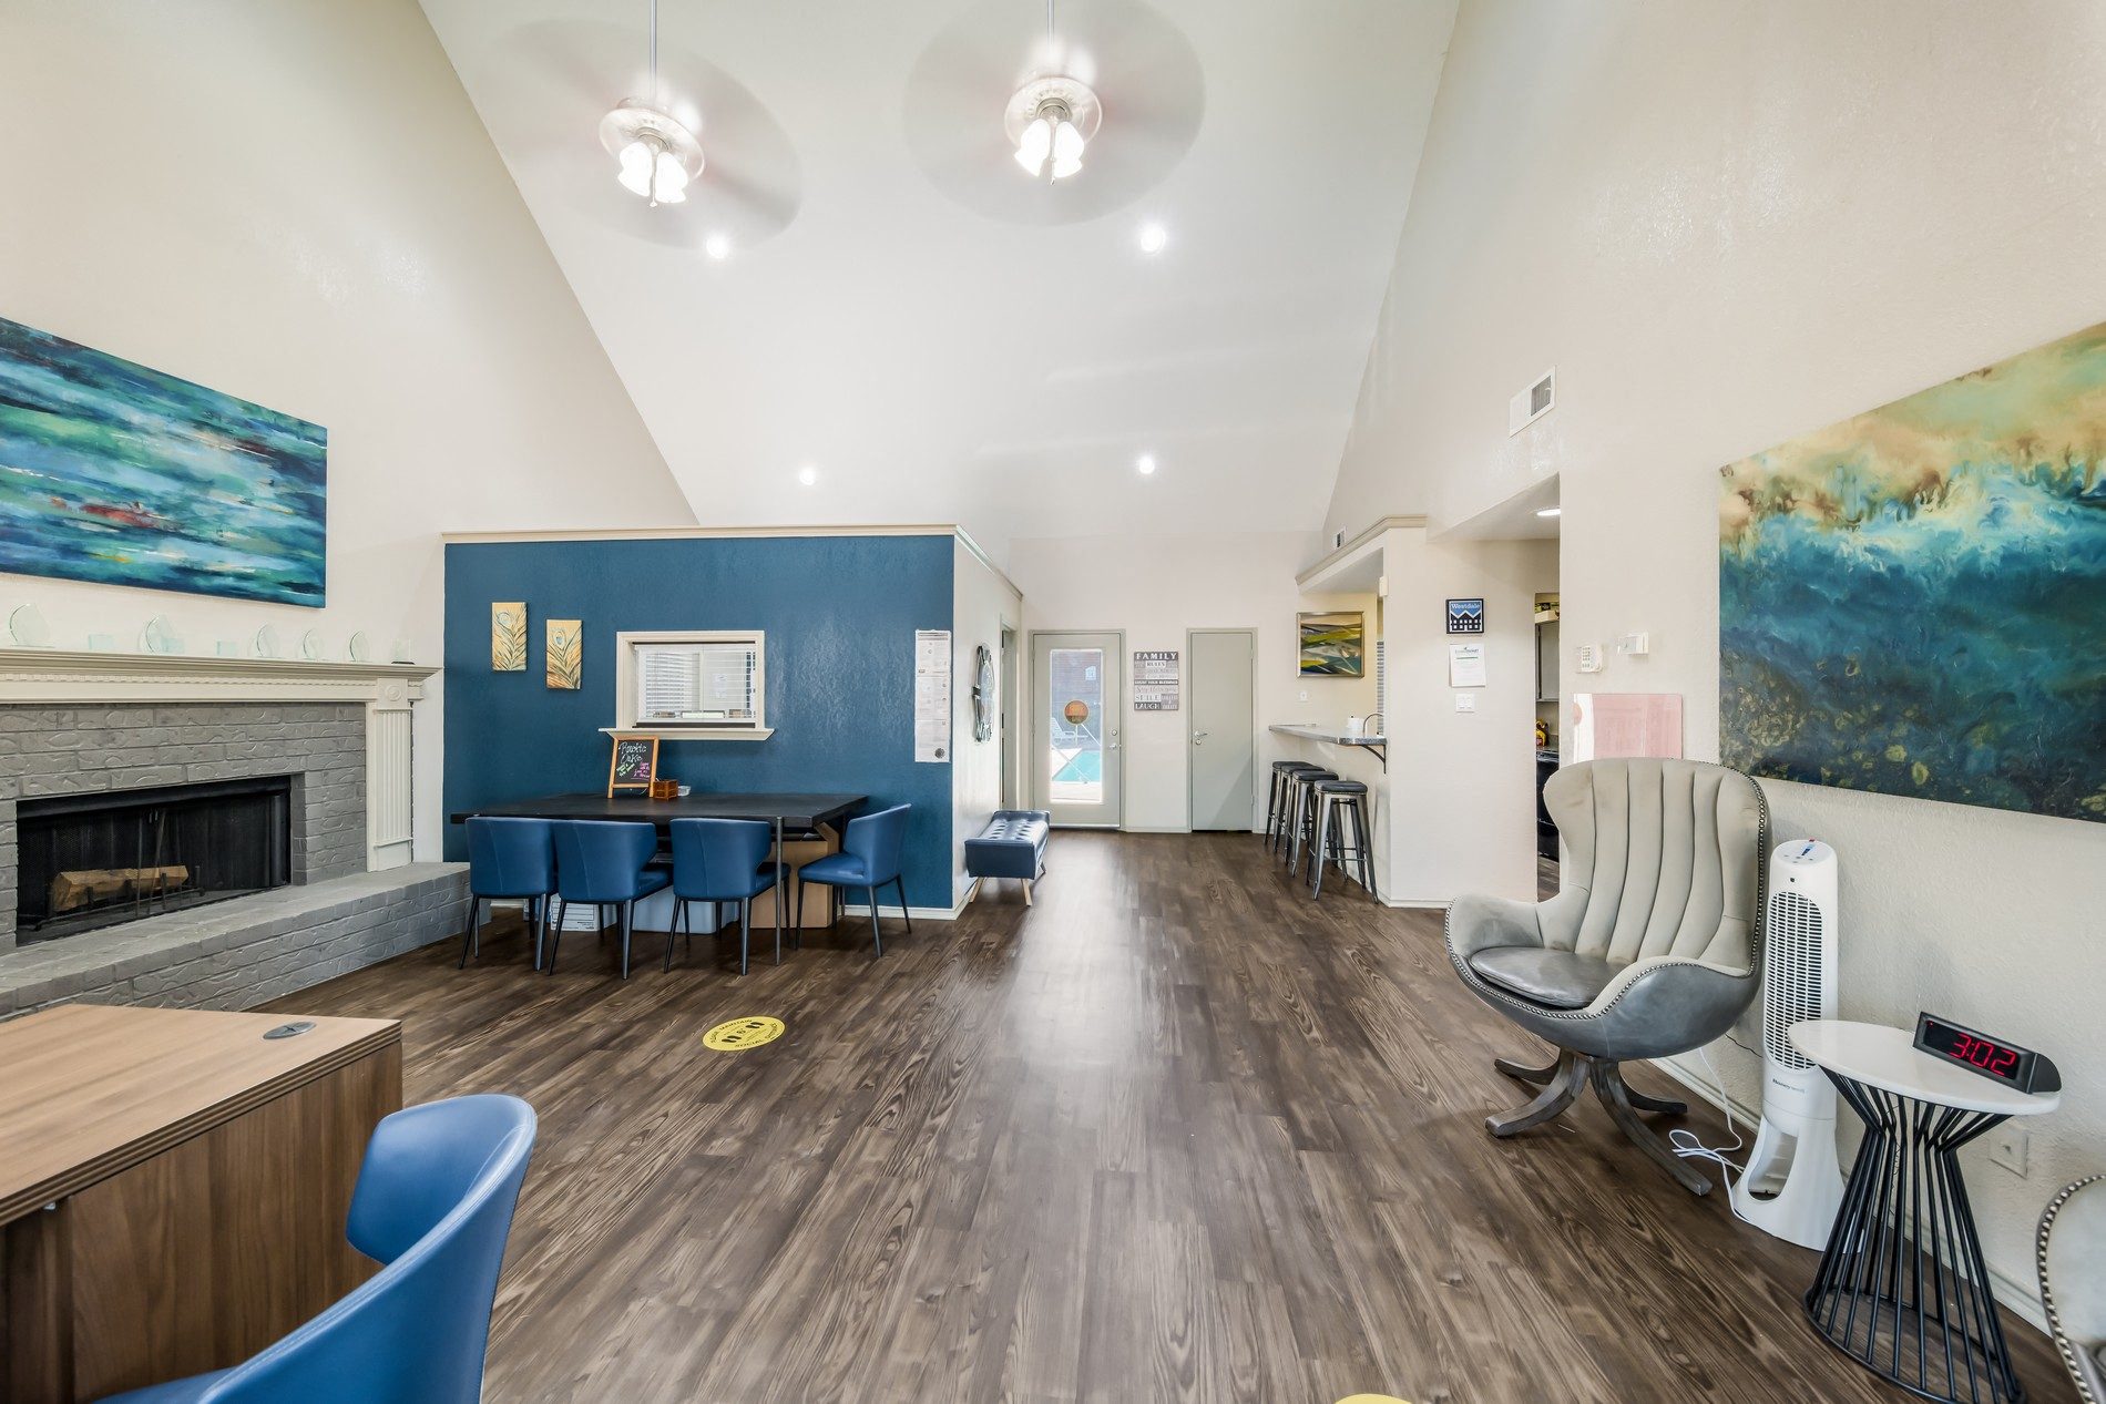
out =
[(1956, 1151), (2013, 1116), (2053, 1111), (2062, 1095), (1965, 1071), (1879, 1023), (1809, 1019), (1790, 1040), (1864, 1118), (1807, 1320), (1919, 1398), (2022, 1404)]

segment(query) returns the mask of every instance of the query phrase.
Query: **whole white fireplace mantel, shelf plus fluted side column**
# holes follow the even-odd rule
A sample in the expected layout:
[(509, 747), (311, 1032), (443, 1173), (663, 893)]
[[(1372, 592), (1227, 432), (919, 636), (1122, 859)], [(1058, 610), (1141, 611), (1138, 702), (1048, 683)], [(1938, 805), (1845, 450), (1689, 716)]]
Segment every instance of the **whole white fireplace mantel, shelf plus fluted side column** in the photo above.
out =
[(423, 663), (316, 663), (183, 653), (0, 648), (0, 707), (122, 703), (362, 703), (366, 709), (366, 865), (411, 861), (411, 705), (438, 669)]

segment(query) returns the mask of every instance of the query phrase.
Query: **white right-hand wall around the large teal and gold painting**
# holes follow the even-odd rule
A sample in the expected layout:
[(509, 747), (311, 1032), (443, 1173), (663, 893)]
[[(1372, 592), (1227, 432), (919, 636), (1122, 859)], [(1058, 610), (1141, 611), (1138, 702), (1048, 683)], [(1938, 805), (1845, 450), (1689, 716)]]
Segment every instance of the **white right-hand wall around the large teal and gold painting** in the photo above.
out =
[[(1438, 526), (1558, 472), (1563, 690), (1575, 644), (1649, 629), (1586, 686), (1683, 693), (1714, 758), (1714, 469), (2106, 316), (2100, 72), (2089, 0), (1466, 0), (1331, 524)], [(1558, 408), (1508, 438), (1552, 364)], [(1969, 1151), (2030, 1290), (2041, 1206), (2106, 1168), (2106, 825), (1765, 789), (1780, 838), (1843, 855), (1845, 1015), (2062, 1063), (2028, 1179)]]

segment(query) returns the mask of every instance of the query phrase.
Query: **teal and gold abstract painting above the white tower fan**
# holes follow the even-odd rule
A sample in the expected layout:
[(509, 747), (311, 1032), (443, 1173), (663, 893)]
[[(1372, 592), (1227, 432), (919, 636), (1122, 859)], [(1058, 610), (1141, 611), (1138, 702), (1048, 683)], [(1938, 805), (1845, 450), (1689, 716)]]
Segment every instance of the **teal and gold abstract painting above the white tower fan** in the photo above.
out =
[(1729, 766), (2106, 821), (2106, 324), (1718, 472)]

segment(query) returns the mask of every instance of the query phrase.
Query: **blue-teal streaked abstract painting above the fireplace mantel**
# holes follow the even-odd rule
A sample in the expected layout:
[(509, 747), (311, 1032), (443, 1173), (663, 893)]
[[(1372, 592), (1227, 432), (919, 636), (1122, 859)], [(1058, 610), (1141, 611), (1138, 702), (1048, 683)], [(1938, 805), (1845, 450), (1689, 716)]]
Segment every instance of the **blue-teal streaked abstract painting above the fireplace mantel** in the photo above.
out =
[(0, 570), (322, 604), (329, 432), (0, 318)]

